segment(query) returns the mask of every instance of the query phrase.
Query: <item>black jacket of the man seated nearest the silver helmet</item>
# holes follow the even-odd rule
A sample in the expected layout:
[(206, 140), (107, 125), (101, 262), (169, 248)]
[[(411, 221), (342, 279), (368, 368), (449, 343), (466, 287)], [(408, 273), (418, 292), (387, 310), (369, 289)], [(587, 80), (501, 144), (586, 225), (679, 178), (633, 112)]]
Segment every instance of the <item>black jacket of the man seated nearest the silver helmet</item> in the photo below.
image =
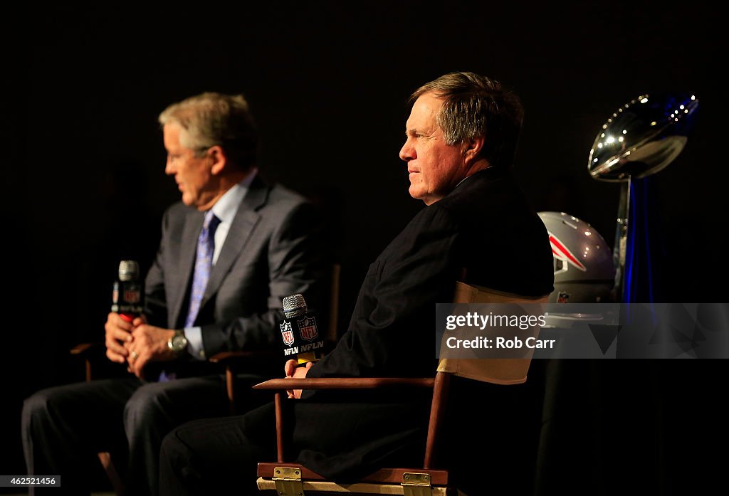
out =
[[(370, 266), (348, 331), (308, 377), (432, 377), (435, 304), (453, 301), (464, 273), (467, 283), (515, 294), (553, 290), (547, 230), (510, 170), (470, 176), (410, 221)], [(303, 465), (346, 479), (421, 454), (424, 439), (416, 436), (428, 398), (346, 398), (308, 391), (295, 404), (293, 441)]]

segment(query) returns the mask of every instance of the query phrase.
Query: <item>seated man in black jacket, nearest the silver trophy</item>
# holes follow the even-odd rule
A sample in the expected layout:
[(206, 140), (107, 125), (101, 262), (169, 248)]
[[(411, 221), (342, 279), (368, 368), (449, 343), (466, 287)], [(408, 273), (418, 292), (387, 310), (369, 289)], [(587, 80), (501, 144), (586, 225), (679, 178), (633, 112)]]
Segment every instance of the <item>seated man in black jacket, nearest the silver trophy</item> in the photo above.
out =
[[(486, 77), (454, 73), (411, 100), (400, 158), (410, 195), (427, 206), (370, 266), (335, 350), (307, 367), (289, 361), (287, 377), (432, 376), (435, 306), (453, 301), (456, 280), (522, 296), (553, 290), (546, 229), (511, 170), (518, 98)], [(346, 480), (422, 462), (428, 398), (289, 396), (300, 398), (286, 402), (289, 457), (315, 472)], [(174, 430), (160, 455), (161, 494), (227, 494), (231, 473), (241, 474), (238, 490), (253, 492), (255, 463), (275, 460), (273, 417), (268, 405)]]

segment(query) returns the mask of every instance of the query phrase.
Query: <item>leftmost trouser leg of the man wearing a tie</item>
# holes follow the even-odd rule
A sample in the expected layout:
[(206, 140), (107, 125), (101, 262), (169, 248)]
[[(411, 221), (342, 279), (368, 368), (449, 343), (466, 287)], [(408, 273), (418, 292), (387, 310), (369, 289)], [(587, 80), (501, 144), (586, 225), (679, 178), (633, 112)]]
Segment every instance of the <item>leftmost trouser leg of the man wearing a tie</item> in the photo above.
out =
[(90, 463), (98, 462), (95, 453), (125, 444), (121, 415), (140, 386), (136, 377), (82, 382), (28, 398), (22, 417), (28, 474), (61, 476), (64, 492), (88, 492)]

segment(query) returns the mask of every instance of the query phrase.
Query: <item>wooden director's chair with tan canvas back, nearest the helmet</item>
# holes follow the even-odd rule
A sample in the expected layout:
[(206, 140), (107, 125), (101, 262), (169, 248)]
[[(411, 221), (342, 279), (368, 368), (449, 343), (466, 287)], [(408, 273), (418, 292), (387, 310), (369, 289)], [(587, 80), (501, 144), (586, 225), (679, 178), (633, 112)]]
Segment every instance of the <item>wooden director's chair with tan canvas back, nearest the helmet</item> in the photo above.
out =
[[(456, 283), (456, 303), (528, 304), (529, 312), (541, 312), (541, 305), (547, 296), (529, 298), (515, 294), (504, 294), (488, 288)], [(536, 303), (536, 304), (535, 304)], [(526, 331), (528, 336), (538, 333)], [(347, 495), (464, 495), (453, 487), (448, 471), (435, 465), (435, 450), (443, 425), (445, 407), (448, 401), (448, 385), (451, 375), (498, 385), (516, 385), (526, 382), (531, 363), (531, 352), (523, 358), (441, 358), (435, 377), (427, 378), (316, 378), (316, 379), (272, 379), (255, 385), (256, 390), (273, 390), (276, 407), (276, 462), (258, 464), (257, 486), (263, 492), (278, 496), (303, 496), (319, 493)], [(284, 417), (283, 396), (290, 389), (375, 389), (375, 388), (432, 388), (426, 449), (423, 465), (417, 468), (381, 468), (374, 473), (351, 483), (330, 481), (308, 468), (284, 461)]]

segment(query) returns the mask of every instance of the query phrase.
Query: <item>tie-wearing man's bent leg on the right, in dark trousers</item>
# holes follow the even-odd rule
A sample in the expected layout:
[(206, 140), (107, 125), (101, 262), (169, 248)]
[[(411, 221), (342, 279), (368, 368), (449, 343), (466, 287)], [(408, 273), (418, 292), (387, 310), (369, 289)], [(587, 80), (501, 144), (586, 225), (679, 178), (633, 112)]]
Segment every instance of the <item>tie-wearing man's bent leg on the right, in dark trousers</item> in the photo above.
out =
[(157, 494), (160, 445), (170, 430), (190, 420), (225, 415), (228, 408), (219, 376), (149, 382), (136, 390), (124, 409), (128, 494)]

